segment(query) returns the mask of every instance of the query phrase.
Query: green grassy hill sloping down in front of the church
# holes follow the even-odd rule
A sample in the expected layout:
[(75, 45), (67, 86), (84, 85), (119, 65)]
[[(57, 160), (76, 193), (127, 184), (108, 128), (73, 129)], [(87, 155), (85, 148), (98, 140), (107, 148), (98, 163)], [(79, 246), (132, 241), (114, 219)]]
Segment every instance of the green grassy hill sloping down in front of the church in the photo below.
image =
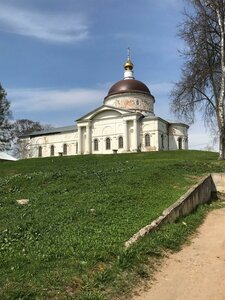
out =
[[(217, 156), (174, 151), (0, 163), (0, 299), (125, 293), (127, 281), (147, 276), (146, 257), (178, 247), (195, 217), (190, 227), (170, 226), (128, 251), (123, 243), (200, 176), (224, 172)], [(24, 198), (28, 205), (16, 202)]]

